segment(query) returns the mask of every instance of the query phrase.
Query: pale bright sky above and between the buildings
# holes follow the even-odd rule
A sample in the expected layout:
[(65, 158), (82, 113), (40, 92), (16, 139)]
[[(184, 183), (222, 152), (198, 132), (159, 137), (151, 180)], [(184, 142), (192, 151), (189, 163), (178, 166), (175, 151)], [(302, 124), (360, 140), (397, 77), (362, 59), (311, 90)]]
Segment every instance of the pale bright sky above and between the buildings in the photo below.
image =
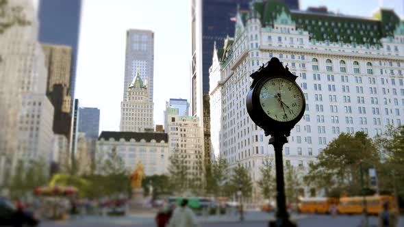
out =
[[(169, 98), (190, 97), (191, 0), (83, 0), (76, 94), (81, 107), (101, 111), (100, 131), (119, 131), (127, 29), (155, 33), (154, 120), (163, 124)], [(301, 0), (333, 12), (371, 16), (379, 5), (403, 17), (403, 0)]]

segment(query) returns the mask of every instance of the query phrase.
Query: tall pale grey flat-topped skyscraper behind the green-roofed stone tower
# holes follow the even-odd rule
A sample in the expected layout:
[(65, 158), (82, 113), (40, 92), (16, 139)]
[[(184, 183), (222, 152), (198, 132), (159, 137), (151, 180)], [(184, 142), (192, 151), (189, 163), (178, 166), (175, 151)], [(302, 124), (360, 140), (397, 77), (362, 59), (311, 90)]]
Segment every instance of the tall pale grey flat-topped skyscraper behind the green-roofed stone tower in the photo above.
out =
[(139, 72), (147, 83), (149, 102), (153, 103), (154, 33), (149, 30), (129, 29), (126, 32), (125, 82), (123, 101), (127, 101), (127, 89)]

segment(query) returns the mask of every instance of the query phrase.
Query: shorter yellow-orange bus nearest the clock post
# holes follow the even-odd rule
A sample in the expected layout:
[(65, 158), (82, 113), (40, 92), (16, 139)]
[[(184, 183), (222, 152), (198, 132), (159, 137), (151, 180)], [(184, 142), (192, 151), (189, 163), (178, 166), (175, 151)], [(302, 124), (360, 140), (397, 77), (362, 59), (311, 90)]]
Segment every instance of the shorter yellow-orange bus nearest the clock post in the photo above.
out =
[(298, 211), (301, 213), (329, 213), (332, 204), (338, 204), (336, 198), (301, 198)]

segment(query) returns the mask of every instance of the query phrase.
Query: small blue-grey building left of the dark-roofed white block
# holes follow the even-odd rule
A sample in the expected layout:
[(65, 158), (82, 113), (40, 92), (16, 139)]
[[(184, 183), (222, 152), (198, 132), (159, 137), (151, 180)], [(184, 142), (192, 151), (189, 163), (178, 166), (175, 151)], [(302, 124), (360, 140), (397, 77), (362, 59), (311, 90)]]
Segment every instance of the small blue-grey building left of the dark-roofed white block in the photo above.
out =
[(80, 107), (79, 133), (86, 133), (86, 139), (97, 139), (99, 135), (99, 109)]

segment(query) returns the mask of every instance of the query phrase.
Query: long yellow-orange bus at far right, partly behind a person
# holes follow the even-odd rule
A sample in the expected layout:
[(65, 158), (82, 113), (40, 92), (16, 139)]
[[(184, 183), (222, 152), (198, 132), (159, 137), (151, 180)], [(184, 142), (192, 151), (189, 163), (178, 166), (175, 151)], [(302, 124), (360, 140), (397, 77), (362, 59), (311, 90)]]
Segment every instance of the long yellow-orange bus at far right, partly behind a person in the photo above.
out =
[[(383, 211), (383, 204), (389, 203), (389, 210), (395, 211), (394, 198), (392, 196), (366, 196), (366, 210), (367, 213), (377, 215)], [(364, 213), (364, 197), (346, 197), (340, 198), (338, 204), (338, 212), (343, 214), (357, 214)]]

